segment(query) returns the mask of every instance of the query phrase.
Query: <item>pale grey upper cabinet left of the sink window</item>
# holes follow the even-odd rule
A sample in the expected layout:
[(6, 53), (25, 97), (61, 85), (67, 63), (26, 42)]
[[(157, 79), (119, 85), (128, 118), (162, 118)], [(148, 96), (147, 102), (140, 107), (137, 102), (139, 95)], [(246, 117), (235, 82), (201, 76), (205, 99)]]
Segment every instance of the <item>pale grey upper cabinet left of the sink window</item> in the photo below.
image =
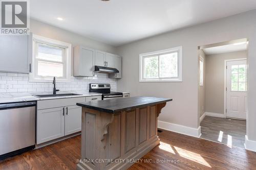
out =
[(0, 71), (31, 72), (32, 33), (0, 36)]

